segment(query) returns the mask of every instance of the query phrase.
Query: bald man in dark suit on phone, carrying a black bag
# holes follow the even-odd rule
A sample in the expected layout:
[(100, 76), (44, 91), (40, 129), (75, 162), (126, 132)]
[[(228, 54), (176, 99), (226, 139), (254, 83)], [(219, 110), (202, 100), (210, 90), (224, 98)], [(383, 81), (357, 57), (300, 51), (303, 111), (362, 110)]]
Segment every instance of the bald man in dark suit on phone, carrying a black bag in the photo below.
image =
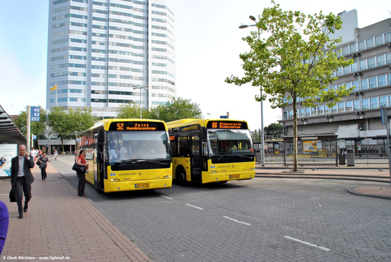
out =
[[(11, 185), (14, 186), (16, 203), (18, 203), (18, 218), (23, 218), (23, 211), (27, 212), (28, 203), (31, 199), (31, 183), (34, 177), (30, 169), (34, 168), (33, 157), (26, 152), (26, 146), (19, 146), (19, 154), (11, 161)], [(22, 209), (23, 192), (25, 195), (25, 205)]]

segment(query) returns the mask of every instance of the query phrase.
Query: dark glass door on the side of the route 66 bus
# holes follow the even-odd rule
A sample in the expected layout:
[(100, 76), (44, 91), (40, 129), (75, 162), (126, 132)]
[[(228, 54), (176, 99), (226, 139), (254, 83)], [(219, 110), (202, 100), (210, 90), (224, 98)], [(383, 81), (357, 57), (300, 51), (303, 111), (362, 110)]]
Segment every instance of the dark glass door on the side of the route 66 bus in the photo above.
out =
[(201, 134), (190, 133), (190, 174), (192, 182), (202, 182), (201, 178)]

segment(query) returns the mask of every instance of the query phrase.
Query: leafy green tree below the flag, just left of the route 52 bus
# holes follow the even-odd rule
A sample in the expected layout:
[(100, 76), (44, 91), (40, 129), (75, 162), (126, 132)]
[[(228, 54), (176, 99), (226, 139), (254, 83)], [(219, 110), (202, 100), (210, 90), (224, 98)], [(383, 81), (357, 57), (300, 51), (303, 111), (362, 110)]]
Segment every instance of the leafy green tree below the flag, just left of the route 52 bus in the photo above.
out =
[(48, 125), (52, 133), (61, 140), (64, 151), (64, 139), (70, 139), (76, 134), (92, 127), (99, 118), (92, 114), (90, 107), (84, 109), (65, 110), (64, 107), (52, 107), (48, 114)]

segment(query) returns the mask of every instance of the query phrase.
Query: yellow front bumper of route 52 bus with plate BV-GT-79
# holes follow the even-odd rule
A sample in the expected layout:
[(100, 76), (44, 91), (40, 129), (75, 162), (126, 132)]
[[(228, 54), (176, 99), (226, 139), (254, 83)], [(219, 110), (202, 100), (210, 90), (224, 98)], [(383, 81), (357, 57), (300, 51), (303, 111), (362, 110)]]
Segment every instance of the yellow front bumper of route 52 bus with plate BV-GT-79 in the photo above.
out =
[(108, 182), (107, 179), (104, 180), (105, 193), (119, 192), (119, 191), (135, 191), (135, 190), (143, 190), (143, 189), (170, 188), (171, 186), (172, 186), (172, 178), (116, 181), (116, 182)]

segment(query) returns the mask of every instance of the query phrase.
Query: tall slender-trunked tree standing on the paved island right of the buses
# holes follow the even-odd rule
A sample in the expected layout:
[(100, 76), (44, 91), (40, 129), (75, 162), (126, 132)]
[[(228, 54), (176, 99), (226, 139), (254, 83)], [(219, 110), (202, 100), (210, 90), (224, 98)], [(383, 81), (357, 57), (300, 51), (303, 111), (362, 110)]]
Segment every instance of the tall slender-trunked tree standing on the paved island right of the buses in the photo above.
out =
[[(352, 88), (341, 86), (328, 89), (328, 84), (337, 77), (334, 72), (353, 60), (340, 59), (332, 52), (341, 38), (330, 39), (329, 35), (342, 28), (339, 16), (330, 13), (306, 15), (300, 11), (283, 11), (272, 1), (273, 7), (264, 8), (256, 23), (258, 31), (242, 38), (251, 50), (240, 54), (245, 76), (226, 78), (225, 82), (241, 86), (251, 82), (264, 91), (256, 101), (266, 100), (269, 94), (271, 107), (287, 105), (293, 101), (293, 171), (297, 171), (297, 116), (296, 98), (303, 104), (315, 107), (316, 102), (333, 107), (348, 95)], [(262, 39), (258, 39), (258, 34)], [(288, 95), (287, 99), (284, 99)]]

